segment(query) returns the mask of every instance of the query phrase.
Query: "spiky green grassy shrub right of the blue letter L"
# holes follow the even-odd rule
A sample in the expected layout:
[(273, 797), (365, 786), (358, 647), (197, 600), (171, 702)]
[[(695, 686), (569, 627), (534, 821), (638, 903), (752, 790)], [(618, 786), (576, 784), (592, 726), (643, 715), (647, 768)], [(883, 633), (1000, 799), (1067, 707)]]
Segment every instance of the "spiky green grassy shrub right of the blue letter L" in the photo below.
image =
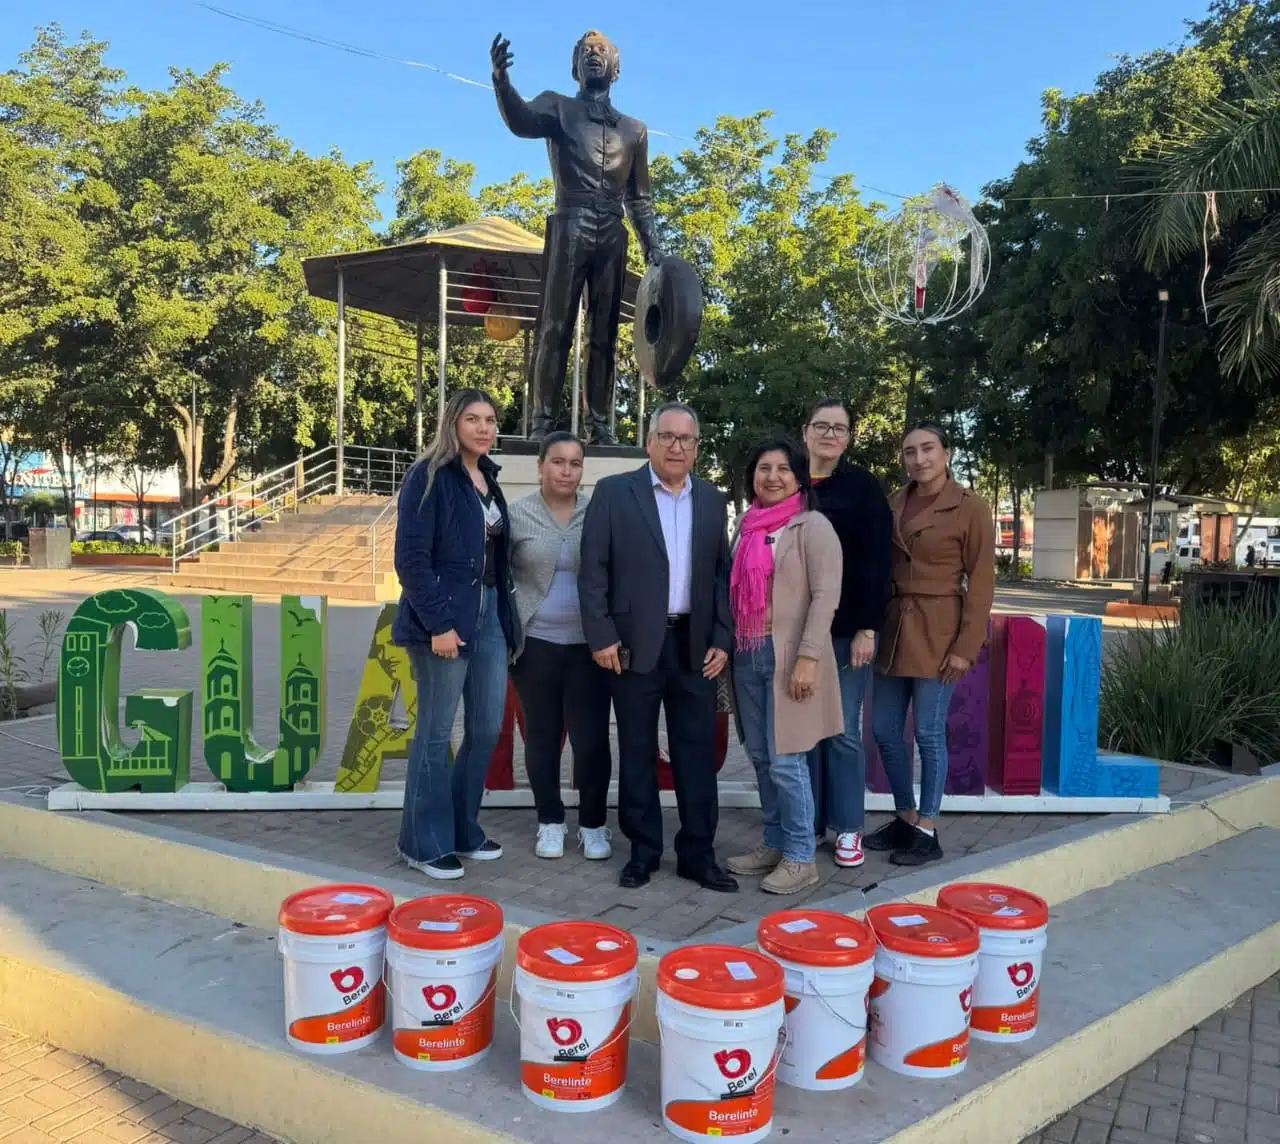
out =
[(1102, 742), (1207, 763), (1217, 742), (1280, 760), (1280, 617), (1251, 604), (1185, 603), (1180, 622), (1139, 627), (1102, 672)]

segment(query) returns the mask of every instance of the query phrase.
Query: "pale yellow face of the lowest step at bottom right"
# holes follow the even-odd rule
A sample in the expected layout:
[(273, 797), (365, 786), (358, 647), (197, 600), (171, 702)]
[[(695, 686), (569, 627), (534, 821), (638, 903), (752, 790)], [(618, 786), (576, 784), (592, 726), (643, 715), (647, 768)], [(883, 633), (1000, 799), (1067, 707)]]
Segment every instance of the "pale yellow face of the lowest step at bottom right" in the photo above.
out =
[(1280, 969), (1280, 924), (1254, 934), (947, 1104), (883, 1144), (1021, 1140)]

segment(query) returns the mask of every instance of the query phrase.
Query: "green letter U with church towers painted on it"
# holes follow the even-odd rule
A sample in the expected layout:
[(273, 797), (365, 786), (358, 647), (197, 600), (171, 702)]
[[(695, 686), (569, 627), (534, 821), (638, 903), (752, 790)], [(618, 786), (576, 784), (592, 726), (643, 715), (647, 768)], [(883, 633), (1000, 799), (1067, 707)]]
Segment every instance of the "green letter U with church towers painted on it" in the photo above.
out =
[(324, 746), (324, 596), (280, 598), (280, 741), (253, 737), (253, 598), (206, 596), (202, 609), (205, 763), (229, 791), (288, 791)]

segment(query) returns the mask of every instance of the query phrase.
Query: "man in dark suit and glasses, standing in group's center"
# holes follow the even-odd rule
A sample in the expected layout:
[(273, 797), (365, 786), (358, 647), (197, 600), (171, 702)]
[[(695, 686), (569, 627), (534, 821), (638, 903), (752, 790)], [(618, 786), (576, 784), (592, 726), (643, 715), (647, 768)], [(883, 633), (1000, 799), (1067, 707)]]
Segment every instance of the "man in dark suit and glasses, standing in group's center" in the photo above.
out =
[(612, 672), (618, 720), (618, 825), (631, 842), (620, 884), (649, 882), (662, 857), (658, 710), (680, 806), (676, 873), (707, 889), (737, 882), (716, 862), (716, 677), (728, 663), (724, 498), (692, 475), (698, 416), (662, 406), (649, 463), (602, 480), (582, 523), (579, 599), (596, 664)]

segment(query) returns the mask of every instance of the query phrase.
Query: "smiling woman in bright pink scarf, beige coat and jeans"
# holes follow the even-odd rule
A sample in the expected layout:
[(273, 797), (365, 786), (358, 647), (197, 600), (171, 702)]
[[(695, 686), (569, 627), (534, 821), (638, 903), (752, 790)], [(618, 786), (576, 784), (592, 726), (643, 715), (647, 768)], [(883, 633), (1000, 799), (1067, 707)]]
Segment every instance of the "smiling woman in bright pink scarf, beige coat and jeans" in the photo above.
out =
[(799, 893), (818, 882), (808, 752), (845, 729), (831, 647), (842, 557), (831, 522), (810, 511), (803, 449), (767, 440), (746, 473), (754, 500), (739, 525), (730, 580), (733, 687), (764, 838), (728, 868), (763, 874), (760, 888), (769, 893)]

